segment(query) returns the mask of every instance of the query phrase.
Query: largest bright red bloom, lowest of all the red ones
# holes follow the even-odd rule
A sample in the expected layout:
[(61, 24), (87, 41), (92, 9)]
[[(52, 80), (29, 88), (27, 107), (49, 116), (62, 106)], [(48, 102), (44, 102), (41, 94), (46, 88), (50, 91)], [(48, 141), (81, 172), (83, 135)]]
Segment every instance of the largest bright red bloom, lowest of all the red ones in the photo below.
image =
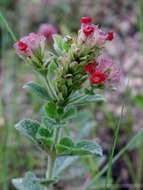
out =
[(105, 73), (102, 73), (100, 71), (95, 71), (91, 77), (90, 82), (92, 84), (101, 84), (107, 79), (107, 75)]

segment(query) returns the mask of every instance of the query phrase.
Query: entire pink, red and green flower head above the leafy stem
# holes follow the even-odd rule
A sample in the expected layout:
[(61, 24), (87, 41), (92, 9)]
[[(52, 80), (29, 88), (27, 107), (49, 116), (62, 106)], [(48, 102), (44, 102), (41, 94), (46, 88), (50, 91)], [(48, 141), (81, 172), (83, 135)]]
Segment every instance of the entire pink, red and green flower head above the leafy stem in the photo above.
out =
[[(44, 77), (48, 73), (48, 65), (56, 63), (53, 74), (54, 94), (63, 101), (84, 88), (87, 79), (91, 88), (95, 89), (101, 84), (117, 85), (121, 78), (117, 65), (103, 54), (105, 43), (113, 40), (113, 32), (105, 33), (98, 25), (92, 24), (90, 17), (82, 17), (80, 22), (77, 38), (53, 35), (56, 33), (55, 28), (42, 24), (37, 34), (31, 33), (15, 44), (17, 53), (30, 58), (36, 70), (40, 74), (44, 73)], [(53, 53), (46, 50), (46, 38), (53, 38)]]

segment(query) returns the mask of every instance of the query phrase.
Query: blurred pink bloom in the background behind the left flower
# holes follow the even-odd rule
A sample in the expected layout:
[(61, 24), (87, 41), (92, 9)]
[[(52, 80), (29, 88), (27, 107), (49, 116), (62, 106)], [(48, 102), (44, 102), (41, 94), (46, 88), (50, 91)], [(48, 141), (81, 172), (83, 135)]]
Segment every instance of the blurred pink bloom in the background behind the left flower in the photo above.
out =
[(51, 40), (53, 34), (57, 33), (57, 29), (51, 24), (41, 24), (38, 32), (46, 37), (46, 39)]

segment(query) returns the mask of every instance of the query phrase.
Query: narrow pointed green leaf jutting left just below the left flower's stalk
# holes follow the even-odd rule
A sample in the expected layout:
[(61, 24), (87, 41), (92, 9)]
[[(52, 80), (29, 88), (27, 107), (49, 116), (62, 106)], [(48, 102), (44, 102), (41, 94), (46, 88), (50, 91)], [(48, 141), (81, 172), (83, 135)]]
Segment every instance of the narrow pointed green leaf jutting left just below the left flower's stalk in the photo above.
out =
[(24, 85), (23, 88), (29, 89), (34, 94), (38, 95), (39, 97), (41, 97), (41, 98), (43, 98), (45, 100), (48, 100), (48, 101), (51, 100), (50, 95), (47, 92), (47, 90), (43, 86), (41, 86), (41, 85), (39, 85), (39, 84), (37, 84), (35, 82), (28, 82), (28, 83), (26, 83)]

